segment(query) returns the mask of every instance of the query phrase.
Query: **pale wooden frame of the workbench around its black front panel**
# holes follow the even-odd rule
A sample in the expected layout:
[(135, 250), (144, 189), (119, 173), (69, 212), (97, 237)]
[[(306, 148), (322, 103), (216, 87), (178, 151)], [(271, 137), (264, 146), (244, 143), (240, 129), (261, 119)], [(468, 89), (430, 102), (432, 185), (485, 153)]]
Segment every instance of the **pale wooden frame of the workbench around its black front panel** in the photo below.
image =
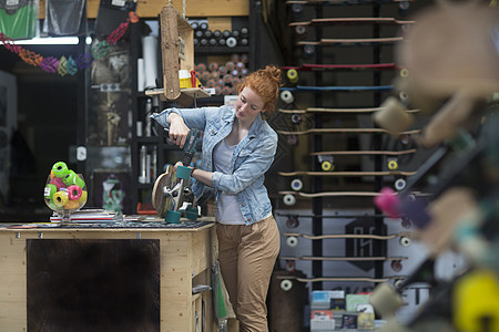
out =
[[(0, 229), (0, 331), (27, 331), (27, 239), (157, 239), (160, 241), (160, 331), (216, 331), (212, 292), (192, 294), (193, 284), (211, 284), (216, 257), (214, 224), (191, 229)], [(205, 321), (200, 320), (204, 302)], [(196, 325), (197, 324), (197, 325)], [(201, 331), (201, 330), (200, 330)]]

